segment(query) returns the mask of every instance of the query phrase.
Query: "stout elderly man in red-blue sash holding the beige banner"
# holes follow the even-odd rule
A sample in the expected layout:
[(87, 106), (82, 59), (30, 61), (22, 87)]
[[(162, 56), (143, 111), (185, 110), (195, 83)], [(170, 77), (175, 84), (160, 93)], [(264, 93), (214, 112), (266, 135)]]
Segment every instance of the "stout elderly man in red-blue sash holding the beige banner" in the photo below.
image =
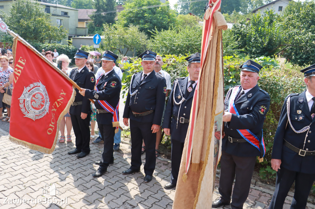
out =
[(248, 60), (240, 68), (241, 86), (232, 87), (224, 101), (225, 137), (222, 139), (219, 181), (221, 198), (212, 202), (214, 208), (230, 204), (234, 177), (231, 207), (243, 208), (256, 158), (262, 158), (265, 154), (262, 127), (269, 110), (270, 97), (257, 85), (262, 66)]

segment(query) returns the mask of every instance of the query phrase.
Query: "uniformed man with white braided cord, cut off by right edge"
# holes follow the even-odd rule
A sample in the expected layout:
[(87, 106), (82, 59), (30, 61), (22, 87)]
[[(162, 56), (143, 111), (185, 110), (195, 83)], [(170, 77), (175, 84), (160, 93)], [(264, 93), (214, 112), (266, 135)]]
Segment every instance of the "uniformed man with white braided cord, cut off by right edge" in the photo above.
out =
[(283, 207), (293, 182), (290, 208), (305, 208), (315, 180), (315, 64), (301, 72), (307, 89), (284, 99), (273, 141), (271, 166), (277, 179), (269, 209)]

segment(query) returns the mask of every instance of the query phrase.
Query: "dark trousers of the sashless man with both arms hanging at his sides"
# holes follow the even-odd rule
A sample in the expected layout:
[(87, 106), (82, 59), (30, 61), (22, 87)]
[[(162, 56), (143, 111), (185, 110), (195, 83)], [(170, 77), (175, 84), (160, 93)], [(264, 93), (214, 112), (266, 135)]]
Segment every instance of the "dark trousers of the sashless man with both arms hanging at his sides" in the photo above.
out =
[(131, 166), (130, 169), (139, 170), (141, 162), (142, 139), (146, 144), (146, 163), (144, 164), (144, 173), (152, 175), (155, 169), (155, 142), (156, 133), (152, 133), (152, 123), (141, 123), (130, 120), (131, 136)]

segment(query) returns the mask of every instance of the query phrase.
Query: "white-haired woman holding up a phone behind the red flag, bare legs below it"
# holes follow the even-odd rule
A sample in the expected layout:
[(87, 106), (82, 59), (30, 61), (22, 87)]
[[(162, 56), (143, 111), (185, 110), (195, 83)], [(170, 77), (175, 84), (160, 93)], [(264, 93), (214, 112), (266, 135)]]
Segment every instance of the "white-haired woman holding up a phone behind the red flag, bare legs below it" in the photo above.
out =
[[(72, 68), (68, 67), (69, 63), (71, 62), (69, 57), (66, 56), (65, 54), (61, 54), (57, 57), (57, 62), (58, 62), (58, 60), (62, 61), (61, 71), (66, 73), (69, 76), (69, 73), (72, 70)], [(66, 140), (66, 138), (65, 138), (65, 126), (67, 126), (67, 142), (72, 142), (72, 139), (71, 139), (72, 122), (71, 122), (69, 112), (63, 117), (63, 119), (60, 122), (60, 127), (59, 127), (60, 134), (61, 134), (61, 136), (59, 138), (60, 143), (64, 143)]]

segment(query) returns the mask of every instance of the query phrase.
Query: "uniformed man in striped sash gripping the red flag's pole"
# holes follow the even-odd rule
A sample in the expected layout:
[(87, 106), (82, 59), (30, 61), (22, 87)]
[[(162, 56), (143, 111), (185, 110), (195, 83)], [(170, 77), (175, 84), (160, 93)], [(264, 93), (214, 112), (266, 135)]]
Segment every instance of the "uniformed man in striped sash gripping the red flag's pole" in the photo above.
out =
[[(104, 151), (99, 168), (93, 177), (99, 177), (107, 171), (109, 164), (114, 163), (114, 135), (119, 128), (119, 98), (121, 80), (113, 67), (118, 56), (111, 51), (105, 51), (102, 56), (102, 68), (105, 71), (96, 82), (95, 90), (82, 89), (80, 94), (89, 99), (96, 99), (96, 121), (104, 140)], [(116, 130), (116, 131), (115, 131)]]

